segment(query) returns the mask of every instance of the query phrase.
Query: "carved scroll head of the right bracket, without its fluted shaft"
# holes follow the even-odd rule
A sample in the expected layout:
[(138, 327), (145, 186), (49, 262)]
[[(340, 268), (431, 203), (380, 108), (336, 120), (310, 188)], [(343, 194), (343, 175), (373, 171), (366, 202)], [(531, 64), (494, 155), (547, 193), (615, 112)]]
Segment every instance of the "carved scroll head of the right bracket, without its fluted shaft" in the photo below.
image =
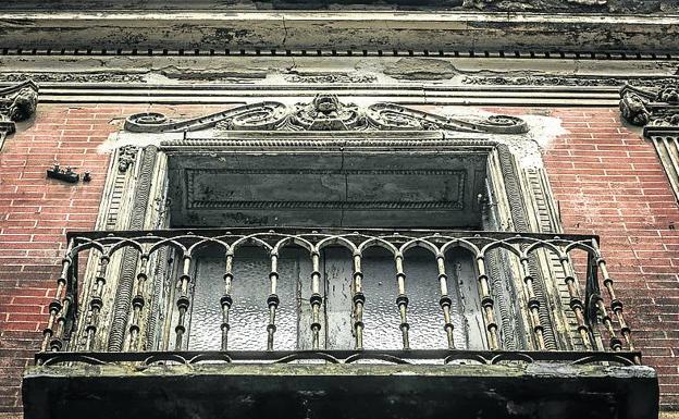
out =
[(679, 131), (679, 83), (646, 89), (625, 85), (620, 89), (620, 112), (632, 125), (652, 131)]

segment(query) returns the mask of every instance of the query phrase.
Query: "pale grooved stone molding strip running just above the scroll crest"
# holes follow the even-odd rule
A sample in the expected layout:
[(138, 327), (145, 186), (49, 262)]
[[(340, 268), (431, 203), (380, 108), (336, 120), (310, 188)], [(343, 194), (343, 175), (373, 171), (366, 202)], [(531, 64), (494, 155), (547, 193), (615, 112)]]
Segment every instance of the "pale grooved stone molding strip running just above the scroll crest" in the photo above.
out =
[[(3, 84), (0, 83), (0, 86)], [(615, 107), (619, 101), (616, 86), (435, 86), (418, 89), (393, 84), (357, 85), (243, 85), (192, 84), (144, 85), (139, 83), (55, 83), (40, 85), (42, 103), (196, 103), (244, 104), (258, 100), (292, 101), (312, 98), (331, 90), (340, 98), (376, 98), (403, 106), (593, 106)]]

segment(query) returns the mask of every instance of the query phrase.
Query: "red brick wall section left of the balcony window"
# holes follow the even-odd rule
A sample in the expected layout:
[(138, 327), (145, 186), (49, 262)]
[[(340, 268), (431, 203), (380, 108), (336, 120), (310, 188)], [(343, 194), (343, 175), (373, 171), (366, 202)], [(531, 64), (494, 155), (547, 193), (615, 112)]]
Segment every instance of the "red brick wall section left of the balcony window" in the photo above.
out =
[[(95, 226), (109, 156), (97, 150), (147, 106), (49, 106), (0, 151), (0, 415), (21, 412), (22, 371), (39, 348), (66, 230)], [(173, 108), (153, 107), (172, 115)], [(203, 107), (185, 107), (190, 114)], [(76, 185), (47, 180), (54, 161), (89, 171)]]

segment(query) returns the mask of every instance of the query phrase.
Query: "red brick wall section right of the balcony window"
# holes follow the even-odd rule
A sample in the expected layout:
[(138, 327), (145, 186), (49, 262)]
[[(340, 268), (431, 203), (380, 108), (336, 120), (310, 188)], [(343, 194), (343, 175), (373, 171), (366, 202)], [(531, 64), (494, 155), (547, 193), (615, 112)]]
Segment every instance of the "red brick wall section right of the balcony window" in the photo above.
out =
[(679, 206), (640, 130), (617, 109), (555, 109), (569, 134), (544, 156), (569, 233), (596, 233), (662, 405), (679, 408)]

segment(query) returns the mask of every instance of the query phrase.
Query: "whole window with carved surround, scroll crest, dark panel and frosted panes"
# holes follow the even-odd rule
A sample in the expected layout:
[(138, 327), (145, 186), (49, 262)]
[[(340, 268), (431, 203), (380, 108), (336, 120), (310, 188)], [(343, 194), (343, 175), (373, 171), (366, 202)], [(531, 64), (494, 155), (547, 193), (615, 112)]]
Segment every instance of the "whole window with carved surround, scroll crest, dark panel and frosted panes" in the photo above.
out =
[[(484, 236), (486, 231), (556, 225), (544, 224), (555, 215), (544, 199), (548, 188), (541, 173), (517, 169), (509, 148), (495, 140), (505, 134), (526, 140), (524, 124), (508, 116), (443, 118), (383, 103), (360, 109), (319, 96), (295, 107), (255, 103), (184, 122), (137, 115), (126, 130), (123, 141), (156, 135), (160, 143), (141, 152), (119, 151), (102, 208), (111, 229), (183, 229), (149, 233), (165, 236), (207, 227), (214, 230), (211, 236), (226, 234), (231, 241), (269, 230), (292, 235), (307, 229), (304, 234), (316, 230), (330, 236), (357, 229), (376, 237), (424, 236), (429, 233), (418, 230), (429, 229)], [(131, 199), (132, 208), (116, 204), (122, 199)], [(359, 255), (365, 303), (357, 318), (354, 255), (346, 246), (323, 247), (313, 279), (313, 251), (286, 246), (273, 264), (275, 241), (267, 241), (270, 248), (249, 243), (233, 252), (231, 270), (223, 246), (205, 246), (188, 259), (186, 252), (169, 250), (150, 260), (146, 269), (155, 270), (155, 282), (148, 284), (135, 275), (139, 255), (123, 255), (113, 261), (121, 266), (120, 278), (107, 283), (115, 289), (115, 304), (99, 316), (106, 328), (98, 332), (98, 345), (110, 350), (382, 350), (447, 348), (452, 341), (469, 349), (578, 344), (572, 331), (553, 326), (578, 326), (564, 317), (568, 297), (548, 291), (556, 289), (558, 274), (565, 275), (563, 270), (552, 275), (560, 269), (558, 260), (530, 257), (531, 286), (543, 301), (535, 320), (535, 309), (526, 309), (521, 263), (501, 249), (486, 255), (487, 272), (480, 272), (477, 256), (461, 248), (446, 254), (441, 269), (448, 282), (442, 289), (436, 258), (425, 250), (409, 250), (398, 272), (393, 252), (367, 248)], [(225, 273), (231, 275), (226, 293)], [(402, 273), (405, 293), (396, 285)], [(319, 298), (312, 295), (314, 283)], [(131, 313), (132, 296), (141, 288), (144, 307)], [(81, 328), (86, 328), (90, 318), (82, 316)], [(138, 331), (134, 344), (132, 331)]]

